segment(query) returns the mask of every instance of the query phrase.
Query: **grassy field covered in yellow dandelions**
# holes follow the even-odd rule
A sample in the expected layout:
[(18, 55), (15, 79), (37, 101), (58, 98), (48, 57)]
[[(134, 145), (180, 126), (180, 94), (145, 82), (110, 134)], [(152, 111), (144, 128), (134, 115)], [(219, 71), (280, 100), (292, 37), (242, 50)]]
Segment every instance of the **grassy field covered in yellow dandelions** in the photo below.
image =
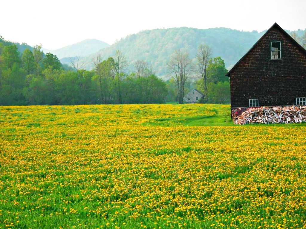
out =
[(305, 228), (305, 124), (229, 110), (0, 107), (0, 228)]

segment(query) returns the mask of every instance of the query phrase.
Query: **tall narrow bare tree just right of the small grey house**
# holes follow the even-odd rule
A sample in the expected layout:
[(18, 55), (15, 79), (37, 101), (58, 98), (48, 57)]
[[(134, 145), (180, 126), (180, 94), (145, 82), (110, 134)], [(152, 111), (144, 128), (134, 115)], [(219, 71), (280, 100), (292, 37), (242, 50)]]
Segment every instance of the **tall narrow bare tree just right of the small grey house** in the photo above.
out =
[(211, 60), (211, 57), (212, 57), (211, 48), (207, 45), (200, 45), (198, 52), (196, 53), (196, 59), (197, 59), (196, 71), (200, 75), (201, 84), (205, 91), (205, 102), (208, 101), (207, 77), (209, 73), (208, 64), (209, 64), (209, 61)]

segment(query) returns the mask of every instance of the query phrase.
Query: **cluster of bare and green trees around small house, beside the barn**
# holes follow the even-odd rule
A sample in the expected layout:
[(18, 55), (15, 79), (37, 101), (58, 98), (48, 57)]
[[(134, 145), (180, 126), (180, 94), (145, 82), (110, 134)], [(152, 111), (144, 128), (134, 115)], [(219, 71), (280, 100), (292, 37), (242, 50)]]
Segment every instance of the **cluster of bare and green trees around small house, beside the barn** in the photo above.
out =
[(200, 45), (196, 63), (182, 49), (175, 50), (168, 63), (169, 75), (176, 85), (177, 101), (184, 103), (186, 84), (193, 80), (194, 87), (203, 93), (200, 102), (212, 104), (230, 103), (230, 79), (220, 56), (213, 57), (211, 48)]

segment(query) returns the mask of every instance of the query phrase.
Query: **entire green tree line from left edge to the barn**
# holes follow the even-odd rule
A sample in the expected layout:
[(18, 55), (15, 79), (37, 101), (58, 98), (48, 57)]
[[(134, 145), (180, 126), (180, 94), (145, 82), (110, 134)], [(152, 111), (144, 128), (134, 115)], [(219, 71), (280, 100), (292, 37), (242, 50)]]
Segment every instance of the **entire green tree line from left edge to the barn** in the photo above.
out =
[[(41, 45), (20, 53), (15, 44), (2, 41), (0, 37), (0, 105), (183, 103), (192, 88), (203, 92), (202, 102), (229, 102), (224, 61), (213, 58), (205, 45), (199, 48), (196, 64), (187, 52), (175, 51), (165, 82), (144, 60), (134, 62), (133, 71), (127, 73), (128, 63), (120, 50), (106, 60), (97, 55), (88, 71), (80, 57), (70, 59), (72, 67), (63, 66), (56, 55), (44, 54)], [(208, 52), (203, 63), (201, 50)]]

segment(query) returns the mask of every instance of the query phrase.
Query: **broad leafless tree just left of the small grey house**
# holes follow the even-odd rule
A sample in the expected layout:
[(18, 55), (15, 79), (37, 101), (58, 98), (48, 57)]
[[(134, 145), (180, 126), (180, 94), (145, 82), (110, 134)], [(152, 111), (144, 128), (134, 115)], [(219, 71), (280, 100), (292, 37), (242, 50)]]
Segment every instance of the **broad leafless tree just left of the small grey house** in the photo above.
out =
[(182, 53), (181, 50), (175, 50), (170, 56), (168, 63), (170, 77), (177, 84), (177, 97), (179, 104), (183, 103), (185, 83), (192, 74), (192, 62), (187, 52)]

